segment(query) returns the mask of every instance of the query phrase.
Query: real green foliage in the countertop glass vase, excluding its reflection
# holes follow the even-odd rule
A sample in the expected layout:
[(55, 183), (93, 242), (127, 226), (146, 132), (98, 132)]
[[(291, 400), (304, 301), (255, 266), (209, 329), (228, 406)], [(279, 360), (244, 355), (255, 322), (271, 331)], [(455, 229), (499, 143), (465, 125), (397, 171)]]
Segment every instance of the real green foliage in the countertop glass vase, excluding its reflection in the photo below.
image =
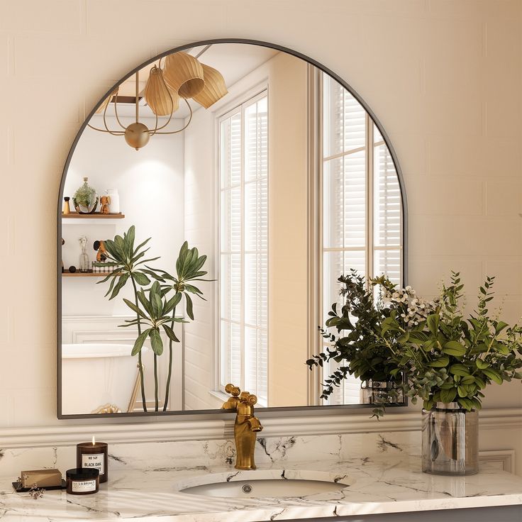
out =
[[(389, 281), (383, 278), (382, 283), (388, 294), (394, 291)], [(466, 317), (464, 285), (460, 274), (452, 272), (450, 284), (443, 285), (435, 310), (426, 320), (404, 328), (399, 314), (392, 311), (384, 321), (382, 338), (406, 372), (406, 394), (413, 403), (420, 398), (426, 410), (437, 402), (457, 402), (467, 411), (479, 410), (487, 385), (522, 379), (522, 328), (489, 315), (493, 284), (494, 277), (487, 277), (479, 287), (477, 309)]]

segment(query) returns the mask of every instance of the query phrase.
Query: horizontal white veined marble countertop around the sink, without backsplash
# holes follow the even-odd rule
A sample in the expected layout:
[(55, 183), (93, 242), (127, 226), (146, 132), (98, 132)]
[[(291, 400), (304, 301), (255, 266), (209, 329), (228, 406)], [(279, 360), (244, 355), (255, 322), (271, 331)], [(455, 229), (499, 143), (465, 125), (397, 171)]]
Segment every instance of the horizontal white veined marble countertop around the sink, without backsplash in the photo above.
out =
[(508, 472), (484, 469), (469, 477), (440, 477), (420, 470), (418, 455), (401, 451), (342, 462), (258, 465), (263, 477), (324, 479), (328, 475), (349, 484), (338, 492), (292, 499), (226, 499), (179, 492), (187, 485), (211, 482), (210, 474), (235, 481), (255, 478), (257, 473), (238, 472), (231, 466), (176, 467), (169, 462), (155, 469), (116, 469), (97, 494), (48, 491), (37, 500), (13, 492), (13, 477), (9, 477), (0, 479), (0, 521), (253, 522), (522, 504), (522, 478)]

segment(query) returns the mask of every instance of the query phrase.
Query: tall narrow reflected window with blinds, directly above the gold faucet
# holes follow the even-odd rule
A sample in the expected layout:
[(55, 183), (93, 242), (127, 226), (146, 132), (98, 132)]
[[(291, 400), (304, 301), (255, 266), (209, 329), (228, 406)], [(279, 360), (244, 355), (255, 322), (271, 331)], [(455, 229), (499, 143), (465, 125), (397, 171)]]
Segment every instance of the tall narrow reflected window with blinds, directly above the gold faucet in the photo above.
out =
[(219, 118), (220, 388), (267, 405), (267, 91)]

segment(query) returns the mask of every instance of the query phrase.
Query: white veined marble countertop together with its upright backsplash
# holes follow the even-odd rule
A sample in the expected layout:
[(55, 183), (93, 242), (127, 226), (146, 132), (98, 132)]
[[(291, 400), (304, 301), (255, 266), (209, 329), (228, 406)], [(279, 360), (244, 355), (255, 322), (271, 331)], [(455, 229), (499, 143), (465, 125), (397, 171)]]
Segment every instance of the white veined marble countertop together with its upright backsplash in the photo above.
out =
[[(179, 489), (214, 479), (255, 479), (257, 471), (233, 468), (231, 441), (112, 445), (109, 482), (97, 494), (45, 492), (33, 500), (13, 492), (16, 476), (4, 476), (0, 521), (253, 522), (522, 504), (521, 477), (487, 469), (470, 477), (425, 474), (419, 448), (418, 433), (260, 438), (256, 460), (262, 477), (328, 477), (348, 487), (291, 499), (221, 499)], [(47, 467), (57, 466), (63, 474), (74, 467), (73, 448), (41, 449), (38, 458), (47, 455)], [(0, 471), (6, 462), (20, 464), (18, 472), (31, 469), (22, 465), (32, 462), (30, 450), (3, 455)]]

